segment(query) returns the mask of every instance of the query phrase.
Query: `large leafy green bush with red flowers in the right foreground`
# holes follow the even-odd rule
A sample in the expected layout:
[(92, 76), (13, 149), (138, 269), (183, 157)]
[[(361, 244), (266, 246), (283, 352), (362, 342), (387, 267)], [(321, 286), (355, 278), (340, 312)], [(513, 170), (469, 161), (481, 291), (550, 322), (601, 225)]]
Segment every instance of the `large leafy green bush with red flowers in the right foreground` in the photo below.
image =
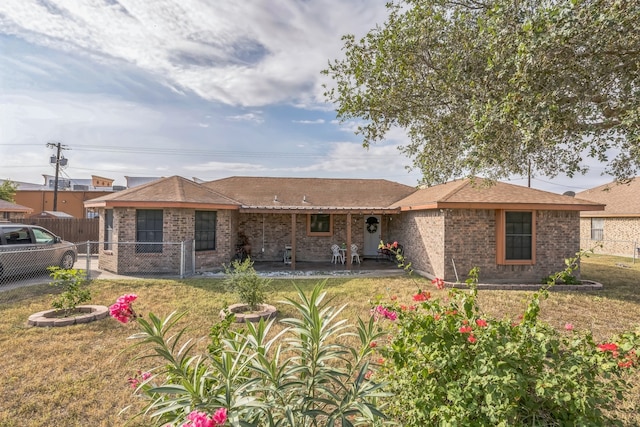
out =
[(489, 318), (476, 301), (477, 273), (443, 299), (418, 289), (410, 305), (378, 305), (397, 313), (380, 347), (387, 414), (403, 426), (621, 425), (606, 410), (638, 372), (640, 331), (604, 343), (570, 324), (557, 331), (538, 319), (547, 288), (519, 319)]

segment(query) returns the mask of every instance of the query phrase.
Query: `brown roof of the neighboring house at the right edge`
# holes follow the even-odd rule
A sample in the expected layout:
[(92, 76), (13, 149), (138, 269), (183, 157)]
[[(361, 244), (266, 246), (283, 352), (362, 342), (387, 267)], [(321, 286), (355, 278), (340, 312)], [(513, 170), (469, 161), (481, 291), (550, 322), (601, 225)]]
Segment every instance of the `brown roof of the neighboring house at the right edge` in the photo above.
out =
[(604, 212), (586, 211), (581, 216), (640, 216), (640, 177), (627, 184), (615, 181), (589, 190), (581, 191), (576, 197), (606, 205)]

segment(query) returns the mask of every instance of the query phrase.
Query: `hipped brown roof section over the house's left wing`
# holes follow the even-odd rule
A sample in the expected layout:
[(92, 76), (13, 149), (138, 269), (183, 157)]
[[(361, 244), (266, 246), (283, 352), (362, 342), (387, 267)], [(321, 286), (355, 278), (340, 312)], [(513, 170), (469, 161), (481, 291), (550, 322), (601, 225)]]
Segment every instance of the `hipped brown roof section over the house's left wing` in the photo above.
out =
[(240, 203), (180, 176), (158, 179), (84, 203), (87, 208), (238, 209)]

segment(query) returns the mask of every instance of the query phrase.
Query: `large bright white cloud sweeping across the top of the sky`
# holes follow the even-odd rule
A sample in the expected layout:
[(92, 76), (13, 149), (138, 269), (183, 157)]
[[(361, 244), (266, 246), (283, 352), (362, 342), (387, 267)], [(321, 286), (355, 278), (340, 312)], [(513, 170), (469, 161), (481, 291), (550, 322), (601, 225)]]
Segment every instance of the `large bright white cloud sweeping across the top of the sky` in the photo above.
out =
[(0, 3), (0, 32), (94, 60), (133, 64), (177, 91), (232, 105), (323, 101), (320, 70), (341, 36), (386, 16), (384, 1)]

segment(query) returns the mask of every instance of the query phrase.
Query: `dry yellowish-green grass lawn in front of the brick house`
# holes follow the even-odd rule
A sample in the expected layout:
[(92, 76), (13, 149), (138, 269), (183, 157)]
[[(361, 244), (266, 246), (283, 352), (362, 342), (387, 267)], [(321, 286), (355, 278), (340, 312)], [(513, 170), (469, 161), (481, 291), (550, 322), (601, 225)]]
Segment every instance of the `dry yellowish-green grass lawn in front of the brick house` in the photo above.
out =
[[(542, 303), (542, 319), (559, 329), (572, 323), (577, 330), (591, 329), (597, 341), (613, 334), (640, 327), (640, 262), (631, 259), (592, 256), (583, 261), (582, 277), (604, 284), (603, 291), (591, 293), (553, 292)], [(317, 279), (296, 279), (311, 290)], [(418, 282), (418, 283), (416, 283)], [(272, 282), (269, 303), (295, 297), (291, 279)], [(417, 286), (436, 291), (421, 278), (340, 278), (330, 279), (326, 290), (334, 305), (348, 303), (343, 312), (354, 319), (368, 316), (369, 301), (377, 295), (397, 295), (411, 301)], [(237, 302), (222, 288), (220, 279), (118, 280), (95, 281), (91, 285), (93, 304), (111, 305), (125, 293), (136, 293), (134, 304), (140, 314), (153, 312), (165, 316), (173, 310), (187, 310), (183, 323), (189, 337), (205, 337), (218, 321), (225, 303)], [(515, 318), (521, 313), (531, 292), (480, 291), (483, 310), (490, 316)], [(11, 426), (121, 426), (125, 425), (140, 402), (131, 394), (127, 378), (139, 369), (153, 366), (149, 360), (132, 361), (126, 338), (137, 332), (137, 325), (120, 324), (113, 319), (63, 328), (27, 326), (27, 318), (51, 308), (52, 288), (48, 285), (0, 293), (0, 348), (3, 373), (0, 381), (0, 425)], [(282, 309), (282, 306), (278, 306)], [(293, 312), (280, 312), (279, 317)], [(145, 365), (145, 363), (147, 365)], [(627, 425), (640, 425), (640, 375), (635, 390), (620, 416)], [(131, 409), (121, 413), (127, 406)], [(148, 425), (136, 419), (128, 425)]]

